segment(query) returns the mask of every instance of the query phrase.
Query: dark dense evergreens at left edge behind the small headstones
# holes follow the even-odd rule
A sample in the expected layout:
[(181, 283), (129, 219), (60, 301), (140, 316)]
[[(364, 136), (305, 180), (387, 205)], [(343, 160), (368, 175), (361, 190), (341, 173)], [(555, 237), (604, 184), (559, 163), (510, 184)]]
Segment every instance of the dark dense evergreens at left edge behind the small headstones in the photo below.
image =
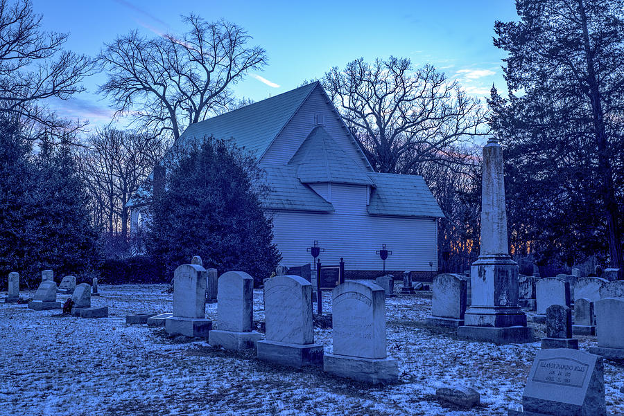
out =
[(0, 274), (17, 271), (21, 286), (33, 288), (42, 269), (94, 271), (98, 251), (71, 152), (44, 142), (33, 157), (30, 143), (0, 118)]

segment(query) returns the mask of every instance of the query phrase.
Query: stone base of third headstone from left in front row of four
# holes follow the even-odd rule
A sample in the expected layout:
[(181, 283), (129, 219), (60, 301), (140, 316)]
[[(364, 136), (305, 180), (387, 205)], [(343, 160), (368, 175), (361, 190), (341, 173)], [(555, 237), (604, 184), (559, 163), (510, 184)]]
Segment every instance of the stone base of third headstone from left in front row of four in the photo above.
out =
[(258, 341), (257, 357), (281, 365), (301, 368), (305, 365), (323, 365), (323, 346), (320, 344), (289, 344)]

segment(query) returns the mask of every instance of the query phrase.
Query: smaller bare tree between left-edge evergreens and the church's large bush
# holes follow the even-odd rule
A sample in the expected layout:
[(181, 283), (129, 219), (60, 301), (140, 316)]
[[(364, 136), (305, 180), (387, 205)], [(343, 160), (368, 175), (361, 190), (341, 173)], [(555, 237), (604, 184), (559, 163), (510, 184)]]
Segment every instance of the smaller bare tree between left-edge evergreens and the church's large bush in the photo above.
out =
[(94, 221), (112, 238), (128, 241), (126, 204), (164, 153), (159, 138), (146, 132), (98, 130), (78, 152), (80, 171), (92, 197)]

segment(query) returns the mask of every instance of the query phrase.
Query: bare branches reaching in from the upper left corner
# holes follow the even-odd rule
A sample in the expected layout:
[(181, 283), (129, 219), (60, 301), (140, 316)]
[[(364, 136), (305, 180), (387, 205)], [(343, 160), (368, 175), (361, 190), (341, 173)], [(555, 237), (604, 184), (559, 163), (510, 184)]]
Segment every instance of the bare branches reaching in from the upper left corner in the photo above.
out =
[(46, 129), (67, 127), (41, 100), (85, 91), (80, 82), (95, 62), (63, 51), (67, 34), (44, 32), (41, 21), (30, 0), (0, 0), (0, 111)]

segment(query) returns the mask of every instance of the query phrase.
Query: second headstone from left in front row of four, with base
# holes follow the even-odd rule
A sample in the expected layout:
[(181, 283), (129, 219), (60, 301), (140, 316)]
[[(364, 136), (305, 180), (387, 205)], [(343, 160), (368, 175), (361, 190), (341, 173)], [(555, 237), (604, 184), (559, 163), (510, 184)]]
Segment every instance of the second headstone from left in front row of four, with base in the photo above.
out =
[(220, 275), (218, 287), (217, 329), (210, 331), (208, 343), (226, 350), (254, 348), (262, 338), (252, 331), (254, 279), (244, 271), (228, 271)]

